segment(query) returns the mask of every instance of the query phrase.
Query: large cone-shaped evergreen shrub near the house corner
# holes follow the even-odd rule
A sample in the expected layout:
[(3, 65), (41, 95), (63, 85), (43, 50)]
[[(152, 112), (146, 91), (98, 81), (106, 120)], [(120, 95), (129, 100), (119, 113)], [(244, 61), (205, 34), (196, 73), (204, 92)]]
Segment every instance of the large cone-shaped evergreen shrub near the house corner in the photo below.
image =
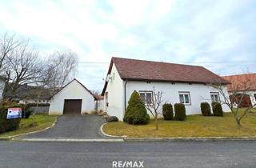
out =
[(129, 124), (142, 125), (147, 124), (149, 120), (150, 115), (146, 113), (146, 107), (142, 98), (137, 91), (134, 91), (130, 96), (123, 121)]

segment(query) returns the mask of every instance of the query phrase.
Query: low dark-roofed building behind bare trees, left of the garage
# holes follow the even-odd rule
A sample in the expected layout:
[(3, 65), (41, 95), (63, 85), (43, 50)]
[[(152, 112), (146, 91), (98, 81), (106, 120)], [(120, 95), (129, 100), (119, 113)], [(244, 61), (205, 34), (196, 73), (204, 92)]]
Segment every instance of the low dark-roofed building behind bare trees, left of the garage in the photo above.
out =
[(15, 96), (7, 91), (6, 97), (12, 98), (20, 104), (26, 103), (50, 103), (52, 91), (43, 87), (22, 85), (15, 91)]

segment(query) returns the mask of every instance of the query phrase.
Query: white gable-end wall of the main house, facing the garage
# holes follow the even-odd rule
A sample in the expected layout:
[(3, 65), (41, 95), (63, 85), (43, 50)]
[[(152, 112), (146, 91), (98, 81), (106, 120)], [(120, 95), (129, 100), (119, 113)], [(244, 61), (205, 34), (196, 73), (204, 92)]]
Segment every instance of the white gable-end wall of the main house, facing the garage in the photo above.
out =
[[(108, 93), (108, 98), (106, 98), (106, 92)], [(116, 116), (122, 121), (124, 115), (123, 81), (114, 65), (110, 73), (110, 80), (107, 84), (106, 92), (104, 95), (104, 110), (110, 116)], [(107, 102), (109, 106), (106, 106)]]

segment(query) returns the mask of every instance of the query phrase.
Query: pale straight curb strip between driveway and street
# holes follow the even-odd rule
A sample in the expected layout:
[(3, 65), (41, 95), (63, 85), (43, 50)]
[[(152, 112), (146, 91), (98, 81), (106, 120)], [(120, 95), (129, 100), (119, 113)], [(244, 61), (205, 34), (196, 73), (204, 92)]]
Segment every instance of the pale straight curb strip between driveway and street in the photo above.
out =
[(14, 139), (14, 141), (26, 141), (26, 142), (123, 142), (119, 139), (80, 139), (80, 138), (22, 138)]

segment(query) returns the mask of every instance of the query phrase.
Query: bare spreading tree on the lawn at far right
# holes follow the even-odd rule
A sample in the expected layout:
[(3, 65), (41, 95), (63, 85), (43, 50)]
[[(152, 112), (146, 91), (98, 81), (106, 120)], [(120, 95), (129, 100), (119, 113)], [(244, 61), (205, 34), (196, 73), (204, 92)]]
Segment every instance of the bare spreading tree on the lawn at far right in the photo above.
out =
[(256, 104), (250, 103), (245, 108), (242, 108), (246, 96), (250, 95), (250, 88), (255, 88), (256, 82), (251, 80), (250, 73), (242, 76), (235, 75), (233, 78), (228, 78), (227, 80), (231, 83), (228, 86), (230, 96), (227, 93), (225, 85), (222, 85), (221, 83), (214, 83), (211, 84), (211, 86), (218, 90), (222, 95), (223, 100), (220, 100), (220, 102), (229, 107), (238, 127), (242, 127), (242, 118), (256, 106)]

